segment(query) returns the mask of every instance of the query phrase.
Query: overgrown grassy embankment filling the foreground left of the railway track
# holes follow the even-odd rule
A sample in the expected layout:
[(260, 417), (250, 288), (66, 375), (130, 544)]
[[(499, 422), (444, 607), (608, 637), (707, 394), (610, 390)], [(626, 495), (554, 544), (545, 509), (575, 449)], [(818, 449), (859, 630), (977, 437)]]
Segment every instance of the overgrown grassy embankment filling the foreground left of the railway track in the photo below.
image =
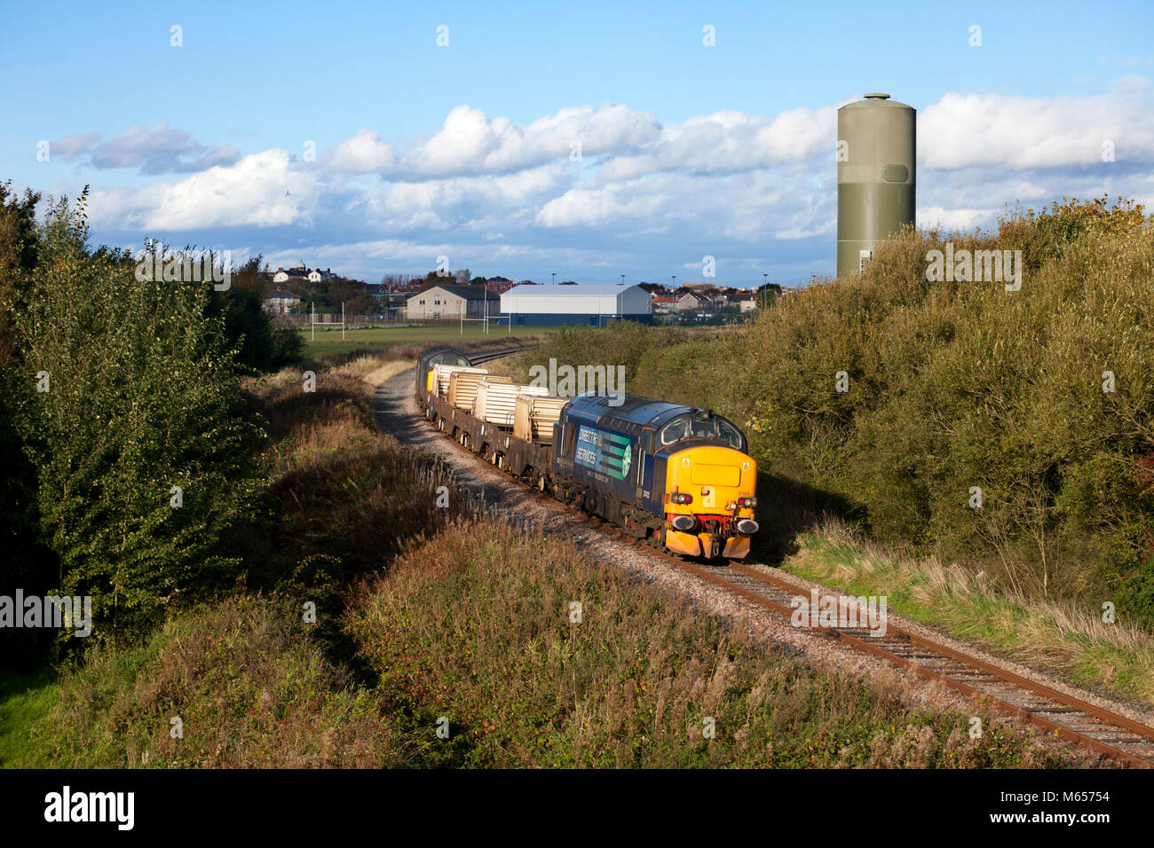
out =
[(237, 587), (173, 610), (142, 641), (92, 646), (55, 677), (9, 680), (0, 764), (1074, 761), (989, 715), (971, 740), (968, 715), (902, 706), (897, 673), (860, 683), (811, 670), (564, 541), (488, 526), (456, 493), (437, 510), (444, 470), (380, 435), (367, 399), (406, 365), (322, 370), (309, 396), (299, 369), (253, 381), (270, 433), (268, 524), (237, 542)]

